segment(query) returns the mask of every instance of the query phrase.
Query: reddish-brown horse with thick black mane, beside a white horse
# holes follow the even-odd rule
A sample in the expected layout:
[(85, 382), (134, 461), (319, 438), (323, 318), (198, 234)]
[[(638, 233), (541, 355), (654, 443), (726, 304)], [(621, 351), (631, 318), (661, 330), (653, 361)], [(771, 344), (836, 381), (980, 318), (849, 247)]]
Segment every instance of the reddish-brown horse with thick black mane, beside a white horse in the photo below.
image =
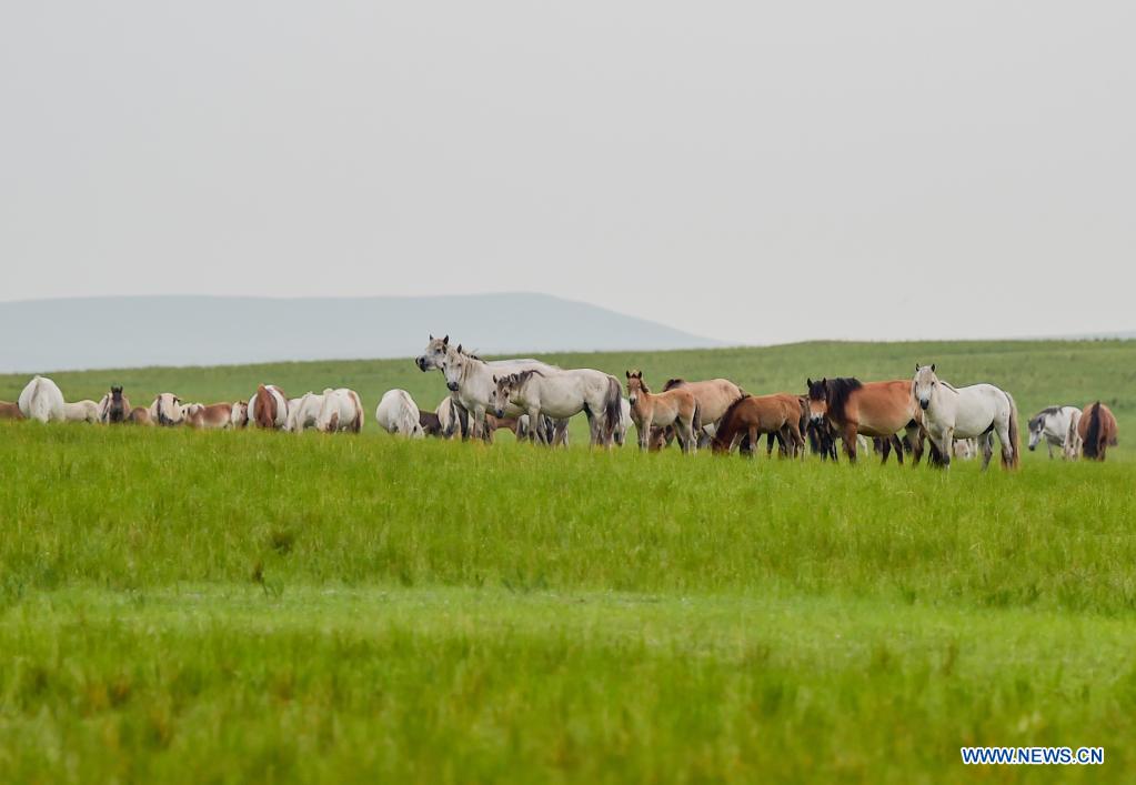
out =
[[(912, 444), (916, 443), (914, 434), (921, 427), (922, 416), (911, 398), (910, 382), (861, 382), (840, 377), (819, 382), (810, 378), (807, 384), (809, 418), (818, 427), (822, 427), (825, 420), (830, 421), (844, 442), (844, 453), (850, 461), (857, 460), (857, 435), (861, 432), (870, 437), (891, 439), (892, 434), (905, 429)], [(918, 462), (919, 453), (914, 457)]]

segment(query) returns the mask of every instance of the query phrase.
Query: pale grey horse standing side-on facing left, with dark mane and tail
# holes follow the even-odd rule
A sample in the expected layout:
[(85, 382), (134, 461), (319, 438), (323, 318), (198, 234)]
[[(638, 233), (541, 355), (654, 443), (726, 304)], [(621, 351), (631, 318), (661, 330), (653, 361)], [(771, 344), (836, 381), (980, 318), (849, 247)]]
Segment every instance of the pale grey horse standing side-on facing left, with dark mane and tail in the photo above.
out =
[[(611, 445), (612, 434), (620, 420), (623, 399), (615, 376), (592, 368), (543, 371), (532, 368), (508, 376), (494, 376), (493, 414), (506, 416), (510, 403), (528, 412), (528, 421), (536, 423), (541, 415), (553, 420), (567, 420), (580, 411), (587, 417), (590, 445)], [(535, 441), (540, 428), (529, 431)]]

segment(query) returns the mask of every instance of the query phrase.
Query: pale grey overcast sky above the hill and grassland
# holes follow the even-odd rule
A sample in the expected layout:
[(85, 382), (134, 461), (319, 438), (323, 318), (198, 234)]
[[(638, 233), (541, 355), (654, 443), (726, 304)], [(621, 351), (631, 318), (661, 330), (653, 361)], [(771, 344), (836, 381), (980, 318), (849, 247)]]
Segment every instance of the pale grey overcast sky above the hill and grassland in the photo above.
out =
[(7, 2), (0, 299), (1131, 329), (1134, 31), (1131, 2)]

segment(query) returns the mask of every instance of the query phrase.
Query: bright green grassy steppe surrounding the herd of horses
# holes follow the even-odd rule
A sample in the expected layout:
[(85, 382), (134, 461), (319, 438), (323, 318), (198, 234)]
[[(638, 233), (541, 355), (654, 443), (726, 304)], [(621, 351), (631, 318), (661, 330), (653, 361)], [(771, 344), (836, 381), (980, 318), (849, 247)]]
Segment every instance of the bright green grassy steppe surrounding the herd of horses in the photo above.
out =
[[(1130, 779), (1136, 343), (549, 359), (754, 393), (934, 361), (1024, 423), (1103, 400), (1120, 446), (984, 475), (0, 423), (0, 782)], [(407, 360), (50, 375), (444, 394)]]

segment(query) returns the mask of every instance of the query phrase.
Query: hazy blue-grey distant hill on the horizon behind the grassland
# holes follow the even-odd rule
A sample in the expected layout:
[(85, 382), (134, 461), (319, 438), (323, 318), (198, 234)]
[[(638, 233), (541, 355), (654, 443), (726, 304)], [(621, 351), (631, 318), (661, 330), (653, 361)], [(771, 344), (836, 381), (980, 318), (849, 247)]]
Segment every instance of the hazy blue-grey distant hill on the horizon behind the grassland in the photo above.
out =
[(411, 357), (431, 333), (485, 353), (722, 345), (546, 294), (80, 298), (0, 302), (0, 373)]

